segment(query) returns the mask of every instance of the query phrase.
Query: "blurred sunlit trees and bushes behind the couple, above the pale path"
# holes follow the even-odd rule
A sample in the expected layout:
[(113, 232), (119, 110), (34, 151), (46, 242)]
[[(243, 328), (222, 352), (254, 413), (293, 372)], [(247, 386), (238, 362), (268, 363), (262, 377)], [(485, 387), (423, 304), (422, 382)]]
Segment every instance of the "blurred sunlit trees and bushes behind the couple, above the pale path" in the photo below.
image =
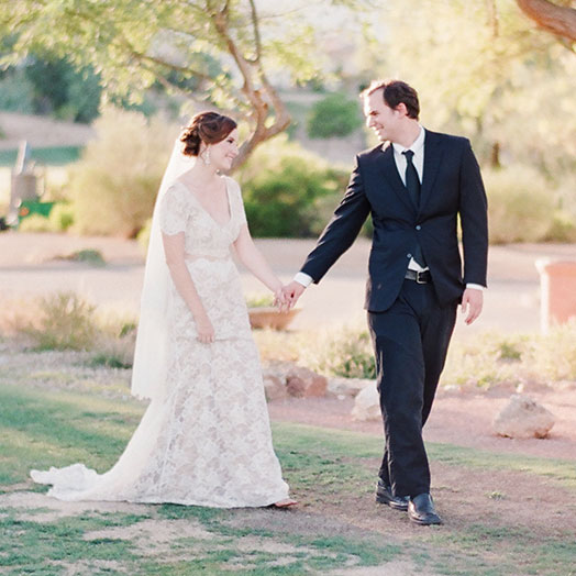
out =
[(376, 144), (358, 92), (401, 78), (419, 90), (423, 125), (472, 140), (492, 243), (574, 242), (574, 37), (539, 27), (524, 4), (3, 2), (0, 215), (26, 141), (37, 193), (54, 204), (20, 230), (145, 243), (171, 142), (215, 108), (241, 122), (234, 177), (254, 235), (313, 237), (354, 155)]

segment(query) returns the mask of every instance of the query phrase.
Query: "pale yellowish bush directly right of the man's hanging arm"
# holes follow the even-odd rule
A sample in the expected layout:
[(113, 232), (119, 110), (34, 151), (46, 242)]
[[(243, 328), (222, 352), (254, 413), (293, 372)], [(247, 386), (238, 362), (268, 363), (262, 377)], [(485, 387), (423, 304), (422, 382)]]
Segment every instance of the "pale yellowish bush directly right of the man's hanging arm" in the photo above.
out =
[(569, 237), (572, 220), (557, 210), (555, 191), (538, 171), (525, 166), (488, 169), (484, 179), (492, 244)]

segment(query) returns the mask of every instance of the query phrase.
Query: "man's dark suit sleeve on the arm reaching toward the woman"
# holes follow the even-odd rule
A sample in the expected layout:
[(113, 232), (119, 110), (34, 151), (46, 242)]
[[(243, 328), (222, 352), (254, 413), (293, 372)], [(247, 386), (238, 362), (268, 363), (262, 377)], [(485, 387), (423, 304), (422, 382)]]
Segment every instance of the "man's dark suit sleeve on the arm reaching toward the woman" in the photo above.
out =
[(364, 191), (358, 157), (356, 156), (346, 193), (300, 272), (308, 274), (318, 284), (356, 240), (369, 212), (370, 204)]

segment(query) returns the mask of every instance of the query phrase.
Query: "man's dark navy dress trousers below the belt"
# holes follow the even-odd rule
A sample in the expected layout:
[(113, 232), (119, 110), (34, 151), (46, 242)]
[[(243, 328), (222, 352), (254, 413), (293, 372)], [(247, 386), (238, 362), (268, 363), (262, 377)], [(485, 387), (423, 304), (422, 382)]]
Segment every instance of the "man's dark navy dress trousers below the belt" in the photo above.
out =
[(422, 427), (444, 367), (456, 308), (456, 302), (441, 307), (432, 284), (405, 279), (388, 310), (368, 311), (384, 419), (379, 476), (396, 496), (430, 491)]

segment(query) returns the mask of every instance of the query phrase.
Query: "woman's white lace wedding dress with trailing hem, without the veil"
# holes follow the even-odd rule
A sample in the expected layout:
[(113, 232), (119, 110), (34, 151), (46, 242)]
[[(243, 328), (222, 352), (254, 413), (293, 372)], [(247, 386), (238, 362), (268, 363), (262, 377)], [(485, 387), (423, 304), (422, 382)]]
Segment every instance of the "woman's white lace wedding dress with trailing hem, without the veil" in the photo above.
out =
[(214, 326), (196, 339), (192, 315), (170, 283), (166, 395), (153, 400), (117, 464), (32, 470), (62, 500), (258, 507), (288, 497), (272, 445), (258, 352), (231, 244), (246, 222), (240, 187), (225, 178), (230, 220), (220, 225), (184, 184), (159, 204), (165, 234), (185, 233), (186, 263)]

